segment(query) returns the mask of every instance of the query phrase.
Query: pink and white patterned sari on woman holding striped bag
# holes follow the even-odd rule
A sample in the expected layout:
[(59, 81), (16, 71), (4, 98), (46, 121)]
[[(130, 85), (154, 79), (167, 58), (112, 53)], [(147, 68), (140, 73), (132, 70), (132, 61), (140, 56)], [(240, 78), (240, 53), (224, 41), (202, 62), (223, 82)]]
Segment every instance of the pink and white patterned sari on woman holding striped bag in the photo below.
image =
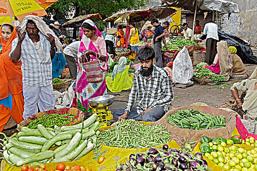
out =
[[(103, 38), (101, 32), (97, 29), (97, 27), (95, 26), (93, 21), (85, 20), (84, 22), (87, 22), (90, 25), (92, 25), (95, 28), (95, 34), (98, 37)], [(75, 93), (77, 94), (77, 98), (78, 98), (78, 100), (80, 100), (82, 106), (85, 107), (86, 109), (88, 109), (89, 108), (88, 100), (90, 98), (107, 95), (106, 82), (105, 82), (105, 71), (107, 70), (108, 55), (107, 55), (105, 45), (104, 45), (104, 47), (99, 47), (99, 48), (105, 48), (106, 54), (101, 54), (101, 52), (98, 52), (98, 50), (94, 46), (93, 42), (91, 42), (91, 40), (83, 34), (82, 26), (80, 28), (80, 35), (81, 35), (81, 43), (80, 43), (79, 54), (78, 54), (78, 73), (77, 73), (77, 84), (75, 87)], [(82, 54), (81, 52), (83, 52), (84, 50), (92, 50), (98, 54), (100, 53), (101, 55), (107, 56), (107, 59), (105, 62), (99, 60), (101, 72), (102, 72), (102, 75), (104, 78), (102, 82), (99, 82), (99, 83), (88, 83), (87, 82), (86, 71), (83, 68), (82, 63), (80, 63), (80, 61), (79, 61), (79, 58), (81, 57), (81, 54)], [(92, 59), (98, 60), (94, 56), (91, 55), (91, 60)]]

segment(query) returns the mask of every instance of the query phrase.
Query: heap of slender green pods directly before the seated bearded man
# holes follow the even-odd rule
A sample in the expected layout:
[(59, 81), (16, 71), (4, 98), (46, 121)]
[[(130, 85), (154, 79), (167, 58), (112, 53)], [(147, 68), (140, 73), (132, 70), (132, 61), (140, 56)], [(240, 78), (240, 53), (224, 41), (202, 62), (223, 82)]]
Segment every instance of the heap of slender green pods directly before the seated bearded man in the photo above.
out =
[(168, 143), (169, 139), (168, 131), (162, 126), (147, 126), (133, 119), (122, 119), (113, 128), (104, 130), (98, 142), (109, 147), (138, 149), (160, 146)]

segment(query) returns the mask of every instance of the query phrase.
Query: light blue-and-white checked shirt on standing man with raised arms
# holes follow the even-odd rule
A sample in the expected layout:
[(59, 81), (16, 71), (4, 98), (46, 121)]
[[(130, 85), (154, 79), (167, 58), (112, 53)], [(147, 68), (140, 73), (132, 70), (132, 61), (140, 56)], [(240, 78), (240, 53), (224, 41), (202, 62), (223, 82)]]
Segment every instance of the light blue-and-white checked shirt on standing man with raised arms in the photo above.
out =
[[(25, 34), (22, 49), (21, 61), (23, 72), (23, 84), (29, 86), (47, 86), (52, 84), (52, 62), (50, 55), (50, 42), (46, 37), (39, 32), (41, 48), (44, 52), (44, 59), (41, 60), (36, 47), (28, 34)], [(9, 54), (11, 57), (12, 52), (16, 48), (18, 39), (12, 42), (12, 50)]]

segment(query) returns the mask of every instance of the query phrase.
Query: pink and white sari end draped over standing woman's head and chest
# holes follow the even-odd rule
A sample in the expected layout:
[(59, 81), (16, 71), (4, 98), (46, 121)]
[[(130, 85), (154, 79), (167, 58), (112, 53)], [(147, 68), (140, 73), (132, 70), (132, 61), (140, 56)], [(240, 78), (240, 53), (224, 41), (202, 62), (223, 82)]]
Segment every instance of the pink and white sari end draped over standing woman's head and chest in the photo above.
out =
[[(101, 34), (101, 32), (97, 29), (96, 25), (93, 23), (92, 20), (87, 19), (85, 20), (82, 25), (87, 22), (89, 23), (91, 26), (93, 26), (95, 28), (95, 35), (99, 36), (101, 38), (103, 38), (103, 35)], [(80, 42), (80, 46), (79, 46), (79, 52), (83, 52), (84, 50), (92, 50), (96, 53), (98, 53), (97, 49), (95, 48), (95, 46), (93, 45), (92, 41), (90, 40), (90, 38), (87, 38), (86, 35), (84, 35), (83, 33), (83, 29), (82, 29), (82, 25), (80, 27), (80, 35), (81, 35), (81, 42)], [(107, 52), (106, 52), (107, 55)], [(95, 56), (91, 55), (90, 59), (95, 59)], [(107, 55), (107, 59), (105, 62), (100, 64), (100, 68), (102, 71), (106, 71), (107, 70), (107, 61), (108, 61), (108, 55)]]

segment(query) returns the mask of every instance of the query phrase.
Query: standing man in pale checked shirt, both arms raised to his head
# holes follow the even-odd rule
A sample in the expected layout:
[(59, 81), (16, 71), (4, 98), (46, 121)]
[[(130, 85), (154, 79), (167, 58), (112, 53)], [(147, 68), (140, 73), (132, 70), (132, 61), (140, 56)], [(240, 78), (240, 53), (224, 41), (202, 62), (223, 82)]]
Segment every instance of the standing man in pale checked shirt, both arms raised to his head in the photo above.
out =
[(37, 113), (38, 107), (41, 111), (46, 111), (54, 109), (55, 106), (51, 63), (55, 55), (55, 41), (51, 34), (44, 36), (38, 27), (34, 21), (27, 20), (25, 32), (22, 34), (22, 28), (18, 26), (18, 39), (13, 40), (10, 52), (14, 63), (22, 61), (24, 119)]

